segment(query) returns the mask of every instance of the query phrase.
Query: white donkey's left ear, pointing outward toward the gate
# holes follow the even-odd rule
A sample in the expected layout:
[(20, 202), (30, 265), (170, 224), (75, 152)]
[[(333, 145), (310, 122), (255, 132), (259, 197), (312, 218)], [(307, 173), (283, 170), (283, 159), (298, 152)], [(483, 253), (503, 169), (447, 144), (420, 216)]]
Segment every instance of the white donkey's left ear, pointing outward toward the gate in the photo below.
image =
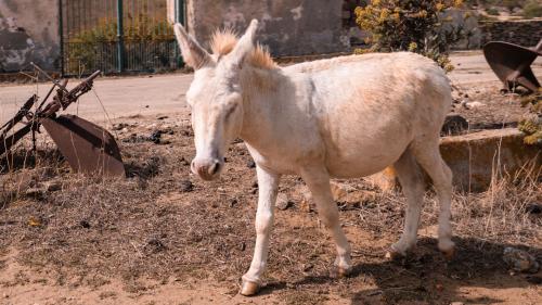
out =
[(173, 29), (177, 42), (181, 48), (182, 58), (189, 66), (198, 69), (211, 62), (209, 53), (186, 33), (181, 24), (175, 24)]

